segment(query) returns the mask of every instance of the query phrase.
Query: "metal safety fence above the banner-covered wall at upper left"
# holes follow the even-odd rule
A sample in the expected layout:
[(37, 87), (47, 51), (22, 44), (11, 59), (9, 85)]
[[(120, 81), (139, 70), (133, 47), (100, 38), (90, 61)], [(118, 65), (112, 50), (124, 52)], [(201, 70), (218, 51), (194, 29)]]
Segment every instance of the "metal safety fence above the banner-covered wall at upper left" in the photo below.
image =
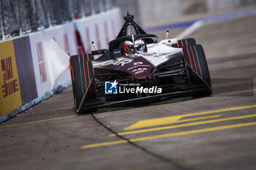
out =
[(0, 0), (0, 40), (112, 8), (113, 0)]

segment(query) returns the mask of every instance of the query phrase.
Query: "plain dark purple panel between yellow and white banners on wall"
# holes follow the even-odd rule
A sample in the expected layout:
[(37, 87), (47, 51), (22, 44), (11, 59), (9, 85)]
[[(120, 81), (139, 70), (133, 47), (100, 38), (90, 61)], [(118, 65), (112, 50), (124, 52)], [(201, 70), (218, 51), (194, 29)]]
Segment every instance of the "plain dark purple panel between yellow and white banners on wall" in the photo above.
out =
[(22, 105), (37, 98), (37, 84), (31, 55), (29, 36), (13, 40)]

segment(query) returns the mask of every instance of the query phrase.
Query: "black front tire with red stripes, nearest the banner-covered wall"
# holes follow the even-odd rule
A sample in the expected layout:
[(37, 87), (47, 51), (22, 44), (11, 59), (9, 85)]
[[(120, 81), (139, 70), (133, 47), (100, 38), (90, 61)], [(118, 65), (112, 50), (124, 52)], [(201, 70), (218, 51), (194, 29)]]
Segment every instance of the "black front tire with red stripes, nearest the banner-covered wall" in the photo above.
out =
[[(91, 61), (89, 61), (89, 56), (88, 54), (73, 55), (69, 59), (75, 112), (78, 112), (86, 90), (89, 90), (86, 100), (95, 98), (95, 89), (93, 87), (88, 88), (91, 78), (94, 77), (94, 70)], [(94, 84), (94, 82), (91, 84)], [(86, 112), (94, 111), (96, 110), (86, 109)]]

